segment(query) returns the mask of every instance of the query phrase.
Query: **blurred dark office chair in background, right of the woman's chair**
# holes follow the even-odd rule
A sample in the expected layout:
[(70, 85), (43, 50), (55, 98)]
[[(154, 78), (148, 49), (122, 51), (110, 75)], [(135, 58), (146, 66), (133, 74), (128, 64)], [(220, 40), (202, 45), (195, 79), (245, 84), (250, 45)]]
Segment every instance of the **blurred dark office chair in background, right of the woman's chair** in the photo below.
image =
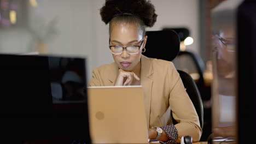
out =
[(201, 99), (206, 104), (203, 104), (203, 133), (201, 136), (201, 141), (206, 141), (212, 131), (212, 107), (208, 105), (211, 99), (211, 83), (206, 80), (205, 76), (207, 75), (203, 75), (206, 65), (200, 56), (190, 51), (180, 51), (172, 62), (176, 69), (183, 70), (193, 77)]

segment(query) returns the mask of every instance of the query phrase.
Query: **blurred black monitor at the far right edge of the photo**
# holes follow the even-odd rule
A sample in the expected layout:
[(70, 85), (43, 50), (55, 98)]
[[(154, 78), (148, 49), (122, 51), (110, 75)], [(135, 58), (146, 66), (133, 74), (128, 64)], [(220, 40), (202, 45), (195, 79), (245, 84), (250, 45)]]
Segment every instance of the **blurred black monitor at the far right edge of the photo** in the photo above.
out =
[[(256, 129), (256, 2), (237, 9), (237, 136), (238, 143), (254, 143)], [(252, 130), (252, 132), (250, 132)]]

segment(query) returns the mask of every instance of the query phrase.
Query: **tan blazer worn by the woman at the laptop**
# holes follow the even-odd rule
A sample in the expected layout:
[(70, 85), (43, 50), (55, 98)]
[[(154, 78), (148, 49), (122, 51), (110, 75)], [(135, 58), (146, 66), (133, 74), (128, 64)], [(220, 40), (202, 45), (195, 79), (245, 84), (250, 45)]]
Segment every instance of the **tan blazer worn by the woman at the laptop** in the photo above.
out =
[[(89, 86), (114, 86), (118, 69), (115, 63), (94, 69)], [(171, 109), (178, 122), (175, 125), (179, 137), (177, 142), (185, 135), (199, 141), (202, 134), (199, 117), (173, 63), (142, 55), (140, 78), (148, 128), (172, 124)]]

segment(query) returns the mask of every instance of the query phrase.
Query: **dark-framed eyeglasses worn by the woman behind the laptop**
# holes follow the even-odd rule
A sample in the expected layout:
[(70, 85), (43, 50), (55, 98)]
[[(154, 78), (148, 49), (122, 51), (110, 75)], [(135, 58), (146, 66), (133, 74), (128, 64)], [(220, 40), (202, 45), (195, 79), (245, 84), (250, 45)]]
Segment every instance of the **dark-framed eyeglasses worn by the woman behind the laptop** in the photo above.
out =
[[(110, 39), (109, 39), (109, 41), (110, 41)], [(130, 46), (123, 47), (123, 46), (119, 46), (119, 45), (109, 45), (109, 49), (110, 49), (110, 52), (115, 55), (121, 55), (123, 53), (124, 49), (126, 49), (126, 52), (129, 53), (130, 55), (134, 55), (134, 54), (139, 53), (139, 48), (141, 48), (143, 41), (144, 40), (142, 39), (141, 44), (139, 46), (130, 45)]]

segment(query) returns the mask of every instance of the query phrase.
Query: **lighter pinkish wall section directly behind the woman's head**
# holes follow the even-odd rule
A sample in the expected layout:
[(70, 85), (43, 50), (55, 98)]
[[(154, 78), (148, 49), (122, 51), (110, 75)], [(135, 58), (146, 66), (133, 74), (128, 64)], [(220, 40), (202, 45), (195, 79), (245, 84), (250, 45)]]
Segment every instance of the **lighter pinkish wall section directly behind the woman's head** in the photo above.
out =
[[(152, 28), (147, 31), (157, 31), (164, 26), (187, 27), (194, 39), (194, 44), (187, 46), (187, 50), (199, 54), (199, 3), (197, 0), (153, 0), (158, 19)], [(100, 9), (104, 0), (94, 1), (93, 17), (96, 29), (96, 55), (94, 67), (113, 62), (108, 49), (108, 25), (104, 25), (100, 17)]]

